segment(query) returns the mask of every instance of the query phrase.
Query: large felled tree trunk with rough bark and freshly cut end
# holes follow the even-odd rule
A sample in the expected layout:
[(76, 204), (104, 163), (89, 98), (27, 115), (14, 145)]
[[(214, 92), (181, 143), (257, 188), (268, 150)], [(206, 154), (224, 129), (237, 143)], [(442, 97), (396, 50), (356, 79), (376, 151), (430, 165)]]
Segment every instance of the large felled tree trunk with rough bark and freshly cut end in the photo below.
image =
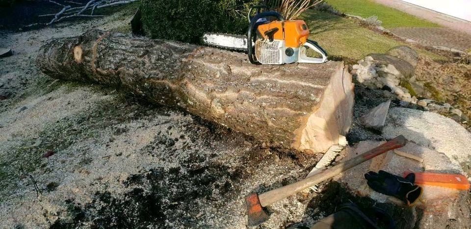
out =
[(323, 152), (352, 120), (343, 63), (252, 65), (243, 53), (91, 30), (42, 47), (49, 76), (125, 86), (276, 146)]

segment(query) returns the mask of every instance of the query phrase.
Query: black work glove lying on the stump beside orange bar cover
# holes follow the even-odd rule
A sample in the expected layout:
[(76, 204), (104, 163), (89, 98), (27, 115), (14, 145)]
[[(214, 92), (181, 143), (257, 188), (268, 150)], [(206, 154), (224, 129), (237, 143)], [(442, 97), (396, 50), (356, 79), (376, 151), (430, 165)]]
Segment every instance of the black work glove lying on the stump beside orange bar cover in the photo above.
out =
[(407, 205), (414, 203), (422, 193), (422, 188), (414, 184), (416, 175), (411, 173), (406, 178), (402, 178), (386, 171), (379, 173), (369, 171), (365, 174), (368, 186), (376, 192), (393, 196)]

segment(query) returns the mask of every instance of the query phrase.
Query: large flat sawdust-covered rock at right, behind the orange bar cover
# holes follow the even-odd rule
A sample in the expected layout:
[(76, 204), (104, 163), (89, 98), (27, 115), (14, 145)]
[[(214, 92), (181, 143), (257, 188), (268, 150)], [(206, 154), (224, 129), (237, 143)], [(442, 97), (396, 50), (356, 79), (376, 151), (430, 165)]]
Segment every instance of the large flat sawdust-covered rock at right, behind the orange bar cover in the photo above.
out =
[(471, 156), (471, 133), (440, 114), (401, 107), (392, 108), (382, 135), (392, 139), (402, 134), (417, 144), (445, 153), (451, 161), (462, 164)]

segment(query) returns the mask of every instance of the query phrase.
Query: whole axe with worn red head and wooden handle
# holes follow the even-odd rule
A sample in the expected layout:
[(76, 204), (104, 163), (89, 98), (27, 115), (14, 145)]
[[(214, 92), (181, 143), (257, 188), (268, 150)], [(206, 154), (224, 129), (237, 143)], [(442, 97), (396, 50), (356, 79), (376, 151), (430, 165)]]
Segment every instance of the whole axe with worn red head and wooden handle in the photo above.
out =
[(405, 146), (407, 140), (404, 136), (399, 135), (392, 140), (362, 153), (358, 156), (355, 156), (345, 162), (341, 162), (338, 165), (324, 170), (321, 173), (318, 173), (312, 177), (302, 179), (292, 184), (288, 184), (284, 187), (273, 189), (271, 191), (262, 193), (258, 195), (257, 193), (252, 193), (245, 197), (245, 205), (247, 207), (247, 218), (249, 226), (257, 226), (268, 220), (268, 215), (263, 210), (263, 207), (273, 204), (279, 200), (285, 199), (288, 196), (291, 196), (301, 190), (309, 188), (314, 184), (333, 178), (341, 172), (348, 170), (354, 166), (357, 166), (375, 156), (386, 153), (390, 150), (401, 148)]

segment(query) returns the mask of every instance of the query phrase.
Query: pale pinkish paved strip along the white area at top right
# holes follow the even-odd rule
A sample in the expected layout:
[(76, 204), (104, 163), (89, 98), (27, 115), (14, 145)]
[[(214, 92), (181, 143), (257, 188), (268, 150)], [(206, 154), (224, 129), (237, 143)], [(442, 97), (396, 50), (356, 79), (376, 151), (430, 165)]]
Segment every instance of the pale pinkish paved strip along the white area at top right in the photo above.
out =
[[(471, 35), (471, 22), (461, 20), (442, 14), (433, 10), (429, 10), (414, 4), (410, 4), (401, 0), (375, 0), (376, 2), (387, 5), (389, 7), (398, 9), (400, 11), (412, 14), (427, 21), (451, 28), (460, 32), (468, 33)], [(444, 2), (447, 4), (447, 2)]]

